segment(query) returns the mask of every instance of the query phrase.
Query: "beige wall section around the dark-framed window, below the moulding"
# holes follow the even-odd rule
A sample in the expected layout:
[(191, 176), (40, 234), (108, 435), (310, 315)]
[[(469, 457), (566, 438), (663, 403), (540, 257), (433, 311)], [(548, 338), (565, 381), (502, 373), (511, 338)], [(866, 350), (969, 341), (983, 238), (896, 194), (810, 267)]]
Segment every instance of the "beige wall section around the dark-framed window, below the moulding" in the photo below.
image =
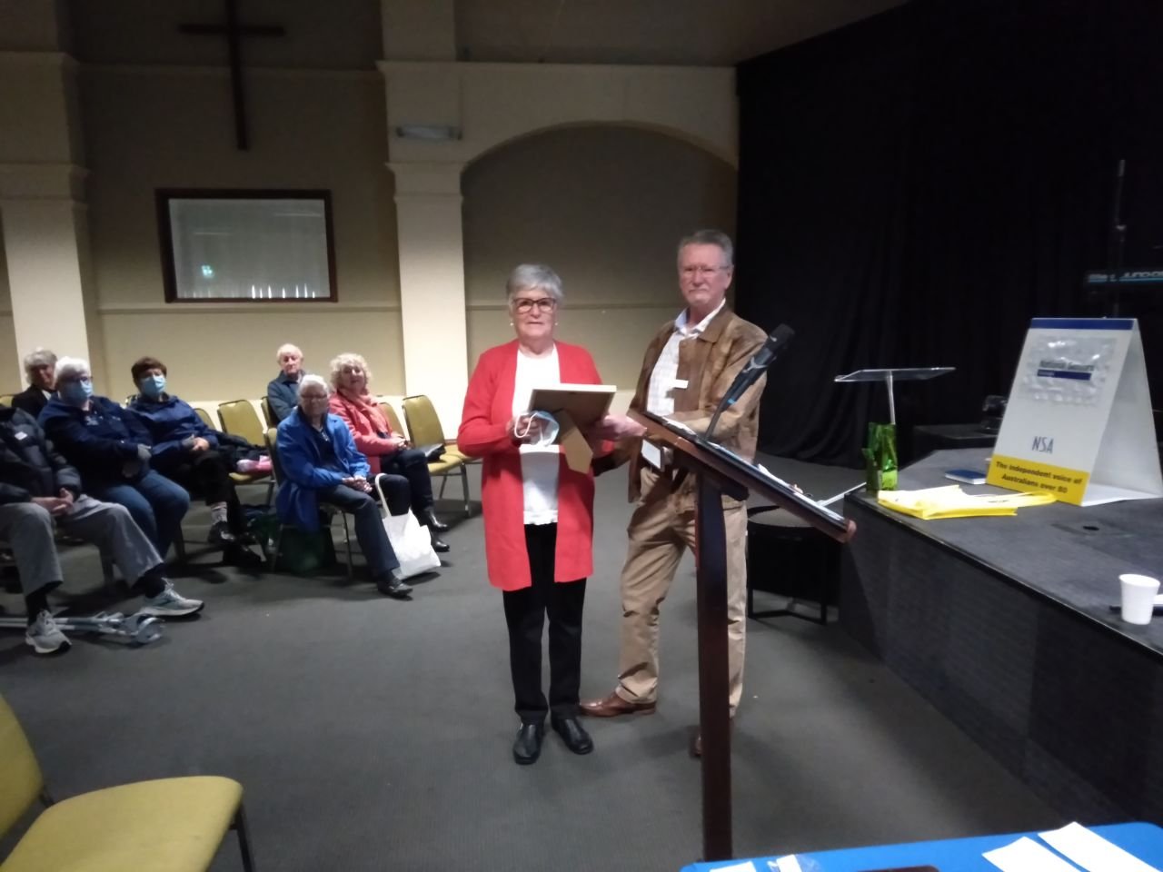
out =
[[(237, 151), (224, 71), (81, 69), (98, 321), (114, 396), (129, 366), (162, 358), (191, 398), (257, 396), (295, 342), (308, 369), (362, 352), (376, 387), (402, 391), (395, 212), (383, 81), (372, 72), (249, 70), (251, 150)], [(164, 302), (159, 187), (328, 188), (336, 303)]]

